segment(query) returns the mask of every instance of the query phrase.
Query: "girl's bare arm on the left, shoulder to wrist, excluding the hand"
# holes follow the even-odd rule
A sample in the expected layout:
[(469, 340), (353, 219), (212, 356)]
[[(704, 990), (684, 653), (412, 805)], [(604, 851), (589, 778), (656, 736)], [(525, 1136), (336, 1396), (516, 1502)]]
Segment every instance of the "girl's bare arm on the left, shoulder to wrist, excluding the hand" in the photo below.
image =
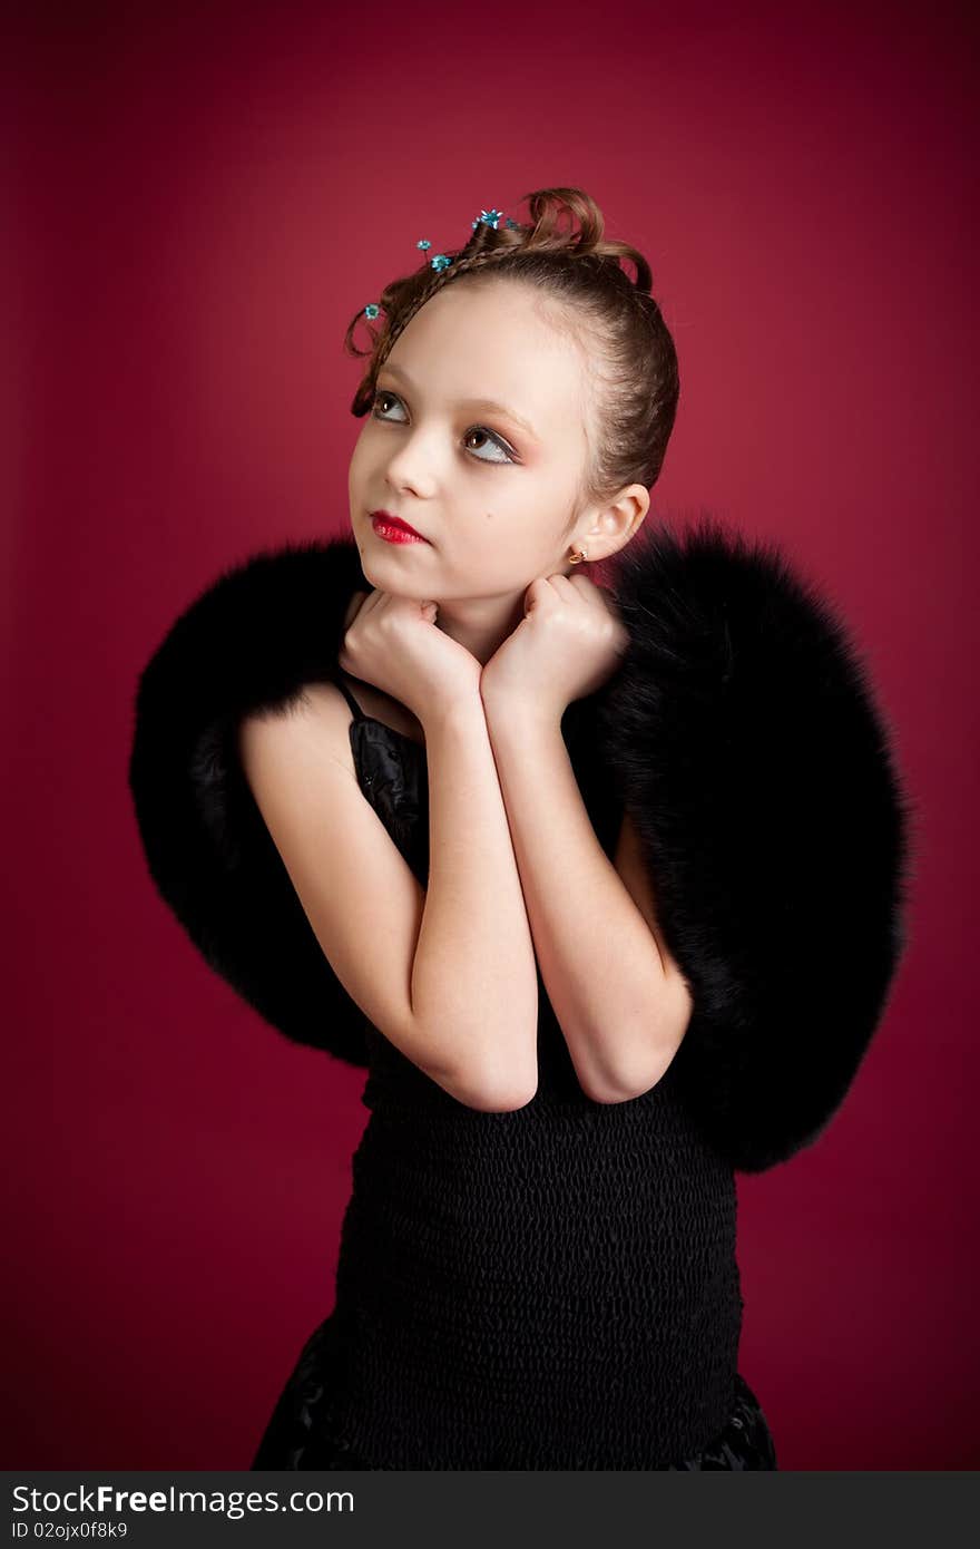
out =
[(240, 756), (316, 939), (390, 1042), (469, 1108), (522, 1108), (537, 1086), (537, 973), (478, 691), (423, 717), (429, 884), (355, 779), (350, 714), (308, 685), (251, 716)]

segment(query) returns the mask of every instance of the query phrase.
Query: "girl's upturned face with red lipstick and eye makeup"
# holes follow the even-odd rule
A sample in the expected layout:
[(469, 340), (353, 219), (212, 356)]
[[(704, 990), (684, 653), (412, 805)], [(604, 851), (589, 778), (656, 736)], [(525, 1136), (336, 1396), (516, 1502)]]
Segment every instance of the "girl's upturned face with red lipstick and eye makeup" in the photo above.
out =
[[(438, 603), (514, 598), (536, 576), (574, 575), (568, 553), (582, 541), (593, 559), (619, 547), (602, 542), (615, 516), (576, 513), (590, 383), (579, 349), (536, 302), (514, 282), (451, 285), (412, 318), (378, 372), (348, 491), (362, 568), (379, 590)], [(427, 542), (387, 542), (372, 527), (376, 510)]]

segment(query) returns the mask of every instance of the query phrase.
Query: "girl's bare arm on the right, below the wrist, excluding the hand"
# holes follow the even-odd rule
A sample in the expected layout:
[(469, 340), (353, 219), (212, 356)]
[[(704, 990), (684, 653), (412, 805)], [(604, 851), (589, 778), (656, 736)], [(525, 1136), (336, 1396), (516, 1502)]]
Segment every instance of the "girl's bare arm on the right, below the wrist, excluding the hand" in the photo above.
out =
[(554, 717), (491, 697), (486, 719), (537, 962), (579, 1083), (598, 1103), (638, 1097), (670, 1064), (690, 994), (660, 939), (633, 830), (627, 819), (613, 866)]

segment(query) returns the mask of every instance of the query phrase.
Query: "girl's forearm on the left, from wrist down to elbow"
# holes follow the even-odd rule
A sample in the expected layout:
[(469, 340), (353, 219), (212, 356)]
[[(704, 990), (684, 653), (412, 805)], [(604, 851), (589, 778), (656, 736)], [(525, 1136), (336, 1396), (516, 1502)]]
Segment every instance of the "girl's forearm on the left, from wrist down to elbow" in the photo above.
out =
[(412, 1007), (444, 1052), (457, 1092), (516, 1108), (537, 1086), (537, 967), (480, 696), (423, 719), (429, 884)]

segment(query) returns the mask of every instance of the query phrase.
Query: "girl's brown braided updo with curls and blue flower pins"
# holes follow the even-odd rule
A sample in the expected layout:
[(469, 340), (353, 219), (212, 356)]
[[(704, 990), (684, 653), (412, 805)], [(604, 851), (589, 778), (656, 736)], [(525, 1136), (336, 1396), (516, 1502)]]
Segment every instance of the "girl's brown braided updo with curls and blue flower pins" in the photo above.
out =
[[(650, 296), (650, 265), (636, 248), (602, 235), (602, 212), (581, 189), (539, 189), (525, 200), (529, 225), (502, 222), (494, 228), (478, 222), (463, 248), (446, 251), (449, 266), (433, 270), (426, 256), (424, 268), (392, 280), (378, 297), (384, 311), (379, 328), (367, 324), (364, 310), (358, 311), (344, 349), (368, 355), (370, 361), (351, 414), (368, 414), (392, 345), (432, 296), (463, 280), (522, 280), (557, 304), (557, 313), (548, 308), (551, 321), (590, 350), (601, 414), (596, 445), (590, 438), (582, 497), (601, 502), (629, 483), (650, 488), (660, 477), (680, 393), (673, 339)], [(559, 229), (564, 212), (577, 218), (577, 232)], [(635, 279), (619, 268), (619, 259), (630, 259)], [(370, 333), (367, 350), (353, 342), (358, 324)]]

